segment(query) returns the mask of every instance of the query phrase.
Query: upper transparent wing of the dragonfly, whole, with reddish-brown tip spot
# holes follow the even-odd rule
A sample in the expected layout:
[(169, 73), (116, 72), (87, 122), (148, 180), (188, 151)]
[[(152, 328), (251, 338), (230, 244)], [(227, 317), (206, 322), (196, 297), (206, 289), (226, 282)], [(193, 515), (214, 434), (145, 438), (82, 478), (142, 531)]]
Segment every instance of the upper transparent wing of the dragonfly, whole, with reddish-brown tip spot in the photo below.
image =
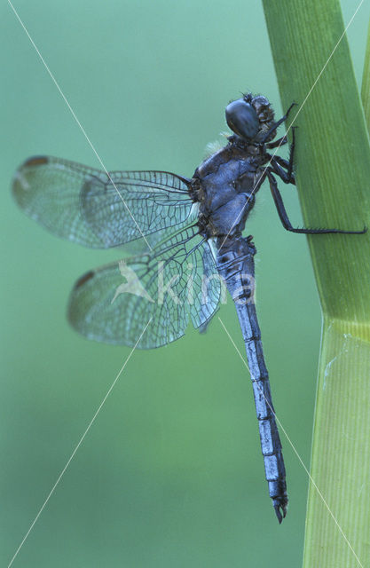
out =
[[(109, 174), (49, 156), (24, 162), (12, 189), (21, 209), (46, 229), (92, 248), (109, 248), (196, 217), (184, 177), (163, 171)], [(147, 248), (147, 247), (146, 247)]]

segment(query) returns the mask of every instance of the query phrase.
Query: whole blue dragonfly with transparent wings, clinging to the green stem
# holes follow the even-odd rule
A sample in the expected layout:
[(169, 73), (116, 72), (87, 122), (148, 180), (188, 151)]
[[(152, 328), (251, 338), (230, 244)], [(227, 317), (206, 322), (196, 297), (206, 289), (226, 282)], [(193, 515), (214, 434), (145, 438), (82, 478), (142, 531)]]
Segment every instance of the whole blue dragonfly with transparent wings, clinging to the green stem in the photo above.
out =
[(185, 335), (189, 320), (204, 331), (225, 285), (247, 351), (265, 477), (279, 523), (287, 514), (286, 469), (256, 315), (256, 248), (253, 237), (242, 233), (265, 179), (287, 231), (366, 231), (291, 225), (277, 177), (295, 185), (295, 130), (288, 160), (270, 151), (287, 144), (287, 135), (274, 138), (293, 106), (275, 121), (262, 95), (247, 93), (230, 102), (225, 119), (232, 134), (193, 177), (107, 172), (42, 155), (24, 162), (12, 183), (20, 208), (59, 237), (91, 248), (137, 243), (135, 255), (76, 281), (68, 319), (89, 339), (151, 349)]

